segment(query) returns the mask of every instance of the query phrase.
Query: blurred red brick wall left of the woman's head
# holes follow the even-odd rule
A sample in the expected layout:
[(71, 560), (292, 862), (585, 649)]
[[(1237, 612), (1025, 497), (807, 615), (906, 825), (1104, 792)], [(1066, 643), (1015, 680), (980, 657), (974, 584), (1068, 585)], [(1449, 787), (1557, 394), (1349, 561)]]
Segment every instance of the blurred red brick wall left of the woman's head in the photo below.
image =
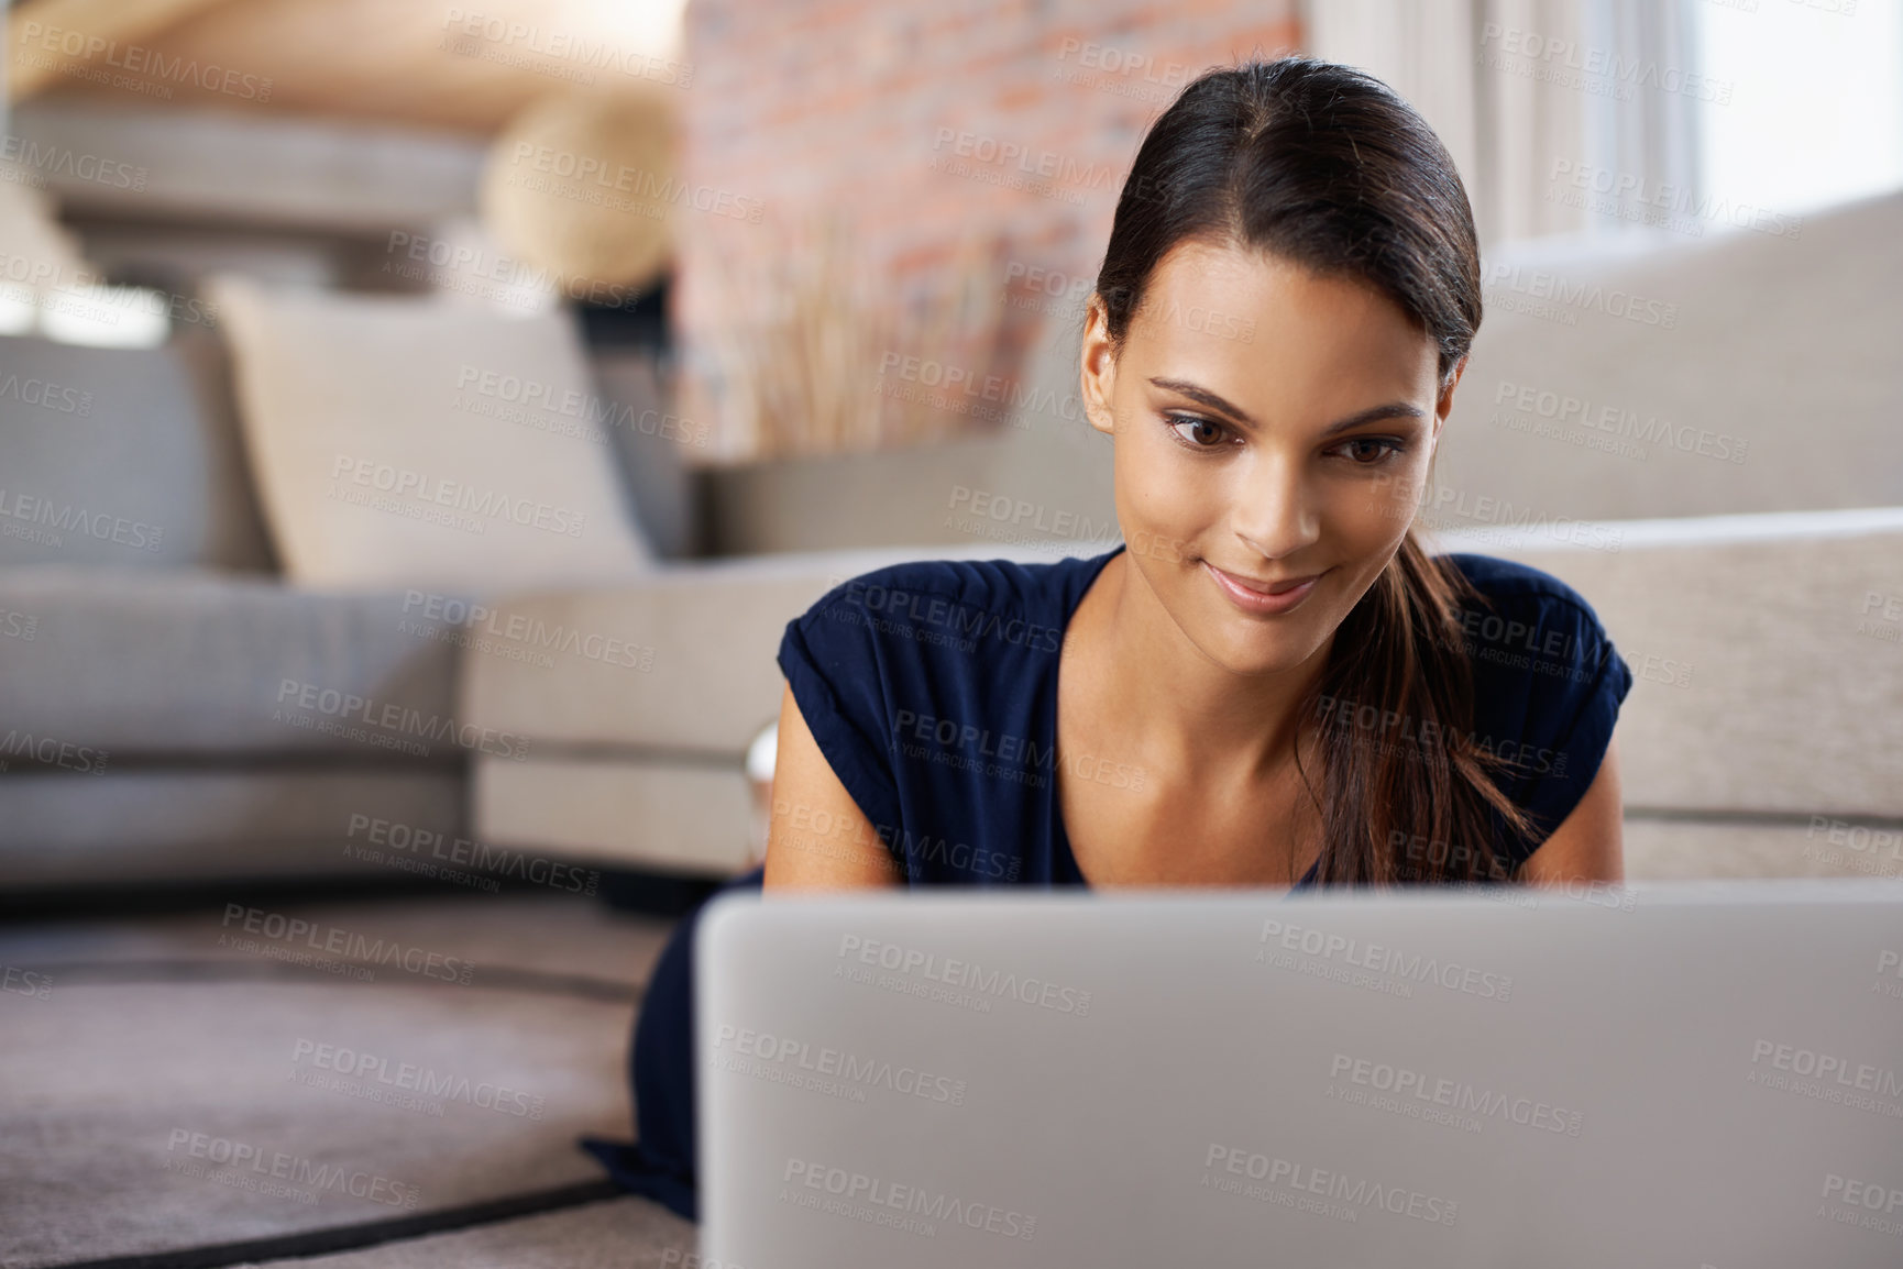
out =
[[(894, 358), (1010, 381), (1049, 322), (1081, 318), (1149, 120), (1207, 67), (1292, 51), (1298, 34), (1294, 0), (693, 0), (681, 177), (716, 209), (676, 226), (681, 411), (714, 422), (723, 459), (775, 449), (750, 428), (750, 375), (788, 394), (778, 413), (875, 401), (877, 436), (826, 447), (999, 426), (990, 394), (898, 405), (891, 386), (915, 398), (934, 371)], [(864, 318), (841, 320), (862, 331), (856, 352), (782, 312), (811, 346), (761, 373), (773, 360), (748, 339), (788, 303), (775, 278), (830, 259), (828, 228), (858, 291), (832, 274), (807, 285), (858, 297)]]

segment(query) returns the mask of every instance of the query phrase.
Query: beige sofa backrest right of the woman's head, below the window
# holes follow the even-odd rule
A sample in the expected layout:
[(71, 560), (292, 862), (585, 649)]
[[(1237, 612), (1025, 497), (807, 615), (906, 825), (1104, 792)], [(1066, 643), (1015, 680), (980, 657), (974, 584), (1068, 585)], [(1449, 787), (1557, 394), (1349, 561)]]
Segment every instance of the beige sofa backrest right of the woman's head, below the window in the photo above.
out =
[(1781, 228), (1490, 251), (1486, 322), (1441, 439), (1450, 508), (1903, 504), (1903, 192)]

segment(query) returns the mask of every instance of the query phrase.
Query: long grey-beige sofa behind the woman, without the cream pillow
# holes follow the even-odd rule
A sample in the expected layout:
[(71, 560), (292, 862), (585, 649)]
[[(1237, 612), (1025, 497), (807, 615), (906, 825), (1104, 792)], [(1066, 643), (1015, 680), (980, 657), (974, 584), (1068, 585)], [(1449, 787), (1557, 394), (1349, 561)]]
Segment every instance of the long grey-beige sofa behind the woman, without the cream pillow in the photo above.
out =
[[(1903, 816), (1899, 219), (1888, 196), (1796, 242), (1488, 263), (1422, 519), (1572, 582), (1627, 651), (1633, 875), (1855, 871), (1871, 860), (1836, 845)], [(1865, 268), (1831, 268), (1850, 251)], [(1774, 287), (1793, 301), (1737, 303)], [(234, 341), (0, 341), (0, 388), (40, 384), (0, 400), (10, 890), (388, 875), (363, 856), (392, 831), (717, 879), (759, 849), (746, 753), (790, 616), (883, 563), (1117, 540), (1109, 441), (1054, 329), (991, 436), (717, 468), (611, 428), (598, 457), (645, 554), (626, 582), (483, 586), (481, 559), (459, 586), (299, 582)], [(588, 373), (622, 417), (666, 415), (651, 361)], [(1819, 422), (1793, 428), (1798, 409)], [(514, 744), (377, 744), (327, 727), (325, 700)]]

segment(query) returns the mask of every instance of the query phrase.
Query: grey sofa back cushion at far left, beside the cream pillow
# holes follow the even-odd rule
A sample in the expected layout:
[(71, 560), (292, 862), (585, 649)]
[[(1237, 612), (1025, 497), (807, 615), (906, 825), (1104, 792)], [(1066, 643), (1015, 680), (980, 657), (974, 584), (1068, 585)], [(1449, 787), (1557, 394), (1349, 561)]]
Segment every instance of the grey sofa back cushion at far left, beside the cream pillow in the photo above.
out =
[(0, 565), (268, 569), (217, 341), (0, 337)]

